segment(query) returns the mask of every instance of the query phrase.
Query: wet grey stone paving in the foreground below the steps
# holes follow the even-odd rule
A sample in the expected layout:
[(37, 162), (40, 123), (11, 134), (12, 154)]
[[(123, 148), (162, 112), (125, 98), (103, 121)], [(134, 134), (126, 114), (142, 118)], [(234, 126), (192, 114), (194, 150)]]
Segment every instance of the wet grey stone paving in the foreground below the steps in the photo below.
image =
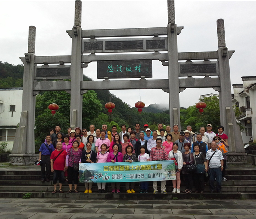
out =
[(0, 199), (0, 218), (256, 219), (256, 200)]

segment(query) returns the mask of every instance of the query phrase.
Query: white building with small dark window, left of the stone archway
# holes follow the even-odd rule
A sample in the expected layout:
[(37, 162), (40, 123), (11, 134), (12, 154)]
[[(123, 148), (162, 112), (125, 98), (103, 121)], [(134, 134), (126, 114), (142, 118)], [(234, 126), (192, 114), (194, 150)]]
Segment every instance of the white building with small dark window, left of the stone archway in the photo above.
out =
[(22, 107), (22, 88), (0, 88), (0, 143), (12, 149)]

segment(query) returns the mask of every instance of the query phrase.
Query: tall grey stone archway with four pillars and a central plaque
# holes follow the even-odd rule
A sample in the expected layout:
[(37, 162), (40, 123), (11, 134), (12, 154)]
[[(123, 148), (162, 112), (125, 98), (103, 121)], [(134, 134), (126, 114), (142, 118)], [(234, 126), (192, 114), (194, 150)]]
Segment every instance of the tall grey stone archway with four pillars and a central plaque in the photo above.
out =
[[(177, 35), (181, 33), (183, 27), (177, 27), (175, 23), (174, 0), (167, 0), (167, 8), (167, 27), (82, 30), (82, 1), (76, 0), (74, 27), (67, 31), (72, 38), (72, 53), (64, 56), (36, 56), (35, 27), (30, 26), (28, 52), (25, 53), (25, 57), (20, 57), (24, 64), (22, 115), (10, 162), (14, 165), (27, 165), (38, 158), (34, 147), (34, 121), (35, 95), (40, 91), (67, 91), (71, 94), (70, 126), (74, 128), (82, 127), (82, 98), (83, 93), (88, 90), (162, 89), (169, 93), (170, 125), (180, 126), (179, 93), (186, 88), (202, 87), (213, 88), (219, 92), (221, 125), (225, 127), (230, 144), (227, 162), (246, 162), (240, 128), (236, 124), (231, 103), (229, 58), (234, 51), (229, 51), (226, 47), (224, 20), (217, 20), (217, 51), (178, 53)], [(151, 38), (124, 38), (145, 36)], [(110, 37), (119, 38), (110, 39)], [(136, 54), (142, 51), (154, 51), (154, 53)], [(113, 52), (118, 54), (108, 55)], [(84, 55), (86, 53), (89, 55)], [(95, 53), (104, 53), (104, 55), (95, 55)], [(213, 59), (217, 61), (211, 61)], [(168, 66), (169, 79), (146, 79), (153, 74), (152, 60), (159, 60), (163, 66)], [(104, 80), (83, 81), (82, 69), (95, 61), (98, 66), (98, 78)], [(187, 78), (179, 78), (181, 76)], [(204, 76), (204, 78), (193, 78), (193, 76)], [(112, 81), (109, 80), (110, 78), (140, 79)], [(49, 79), (58, 81), (48, 81)], [(63, 79), (71, 79), (71, 81)]]

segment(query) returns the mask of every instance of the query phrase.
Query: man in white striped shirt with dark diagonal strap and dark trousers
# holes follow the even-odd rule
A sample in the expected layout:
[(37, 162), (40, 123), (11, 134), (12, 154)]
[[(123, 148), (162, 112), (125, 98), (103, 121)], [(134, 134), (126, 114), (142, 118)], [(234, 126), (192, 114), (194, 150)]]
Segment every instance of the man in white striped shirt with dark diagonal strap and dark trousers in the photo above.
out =
[(221, 192), (221, 177), (223, 170), (223, 156), (220, 150), (217, 149), (217, 144), (215, 141), (211, 142), (211, 149), (206, 153), (207, 169), (210, 174), (210, 193), (215, 190), (214, 179), (216, 178), (216, 190), (218, 193)]

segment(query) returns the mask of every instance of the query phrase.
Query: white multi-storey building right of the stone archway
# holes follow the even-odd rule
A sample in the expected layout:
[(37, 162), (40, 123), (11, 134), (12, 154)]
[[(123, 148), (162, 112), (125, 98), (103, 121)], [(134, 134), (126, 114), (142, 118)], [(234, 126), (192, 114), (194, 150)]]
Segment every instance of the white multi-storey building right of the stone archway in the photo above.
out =
[(242, 139), (244, 143), (248, 143), (256, 141), (256, 76), (244, 76), (242, 81), (243, 84), (232, 85), (232, 102), (241, 112), (237, 120), (245, 127)]

